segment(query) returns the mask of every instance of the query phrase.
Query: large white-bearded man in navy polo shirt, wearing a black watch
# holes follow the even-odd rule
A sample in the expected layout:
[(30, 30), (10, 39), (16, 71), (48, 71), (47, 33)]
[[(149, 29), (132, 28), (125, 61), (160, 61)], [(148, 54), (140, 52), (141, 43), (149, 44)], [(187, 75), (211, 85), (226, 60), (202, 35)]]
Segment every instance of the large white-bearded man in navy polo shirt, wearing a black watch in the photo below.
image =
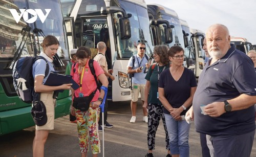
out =
[[(215, 156), (249, 157), (255, 133), (253, 62), (230, 46), (229, 31), (224, 25), (210, 26), (206, 40), (212, 58), (199, 77), (193, 108), (186, 116), (193, 120), (195, 114), (196, 131), (211, 139), (210, 151)], [(201, 110), (203, 105), (206, 106)]]

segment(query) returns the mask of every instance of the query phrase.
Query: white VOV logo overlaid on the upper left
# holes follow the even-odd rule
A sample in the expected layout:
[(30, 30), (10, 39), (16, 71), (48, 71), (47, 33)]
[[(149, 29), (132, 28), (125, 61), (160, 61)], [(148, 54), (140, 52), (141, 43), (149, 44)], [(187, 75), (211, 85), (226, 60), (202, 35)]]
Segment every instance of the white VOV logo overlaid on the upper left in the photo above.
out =
[[(14, 17), (17, 24), (20, 18), (22, 17), (26, 21), (26, 23), (32, 24), (36, 21), (37, 16), (40, 18), (41, 22), (44, 23), (52, 9), (45, 9), (46, 14), (44, 14), (41, 9), (27, 9), (27, 10), (19, 9), (20, 15), (18, 14), (16, 9), (9, 9), (9, 10), (12, 13), (12, 16)], [(31, 14), (32, 16), (30, 19), (29, 19), (29, 14)]]

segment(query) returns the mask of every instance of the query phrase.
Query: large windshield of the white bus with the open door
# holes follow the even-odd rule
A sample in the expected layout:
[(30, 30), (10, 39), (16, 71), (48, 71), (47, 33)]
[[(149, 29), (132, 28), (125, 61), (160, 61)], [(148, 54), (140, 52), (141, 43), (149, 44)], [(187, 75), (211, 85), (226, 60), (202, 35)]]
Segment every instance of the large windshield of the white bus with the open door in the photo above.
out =
[[(118, 56), (117, 59), (129, 59), (134, 54), (137, 53), (137, 43), (141, 41), (141, 38), (144, 38), (145, 41), (148, 43), (146, 44), (146, 54), (150, 55), (149, 49), (153, 50), (153, 41), (152, 41), (152, 34), (146, 33), (151, 32), (149, 19), (146, 8), (143, 8), (139, 5), (135, 5), (133, 3), (120, 1), (121, 7), (126, 11), (126, 13), (132, 14), (132, 17), (129, 18), (131, 24), (131, 33), (132, 36), (128, 40), (122, 40), (117, 36), (117, 50)], [(118, 15), (114, 15), (114, 23), (117, 20)], [(116, 32), (118, 32), (117, 24), (115, 25)], [(143, 35), (142, 35), (143, 34)], [(143, 40), (142, 40), (143, 41)], [(149, 46), (150, 48), (148, 48)]]

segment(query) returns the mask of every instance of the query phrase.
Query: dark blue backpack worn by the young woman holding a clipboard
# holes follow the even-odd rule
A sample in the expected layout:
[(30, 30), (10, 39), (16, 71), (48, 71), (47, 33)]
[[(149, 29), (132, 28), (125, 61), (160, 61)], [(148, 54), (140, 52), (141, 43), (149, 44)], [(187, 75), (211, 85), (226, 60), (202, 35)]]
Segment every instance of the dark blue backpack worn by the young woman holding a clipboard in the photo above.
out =
[(13, 85), (18, 97), (26, 103), (32, 103), (34, 99), (36, 100), (34, 98), (32, 67), (37, 59), (44, 59), (46, 61), (46, 77), (49, 74), (49, 65), (48, 61), (42, 56), (20, 58), (14, 64), (12, 72)]

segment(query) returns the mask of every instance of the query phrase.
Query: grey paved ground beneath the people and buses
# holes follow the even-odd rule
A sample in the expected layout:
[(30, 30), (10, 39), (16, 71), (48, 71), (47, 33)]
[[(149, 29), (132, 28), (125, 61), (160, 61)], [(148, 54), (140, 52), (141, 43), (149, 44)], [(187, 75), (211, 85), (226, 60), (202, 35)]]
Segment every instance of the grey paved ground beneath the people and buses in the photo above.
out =
[[(147, 124), (142, 121), (142, 107), (138, 105), (137, 121), (131, 124), (130, 102), (109, 103), (109, 123), (114, 128), (104, 129), (104, 156), (106, 157), (142, 157), (147, 152), (146, 133)], [(32, 142), (35, 127), (7, 134), (0, 137), (0, 157), (28, 157), (32, 156)], [(102, 132), (99, 132), (102, 140)], [(165, 133), (160, 123), (156, 136), (155, 157), (166, 156)], [(256, 156), (256, 144), (251, 156)], [(101, 141), (102, 144), (102, 141)], [(190, 157), (201, 155), (199, 134), (192, 123), (189, 133)], [(45, 145), (45, 156), (80, 156), (76, 124), (69, 122), (69, 116), (55, 120), (55, 129), (50, 132)], [(92, 156), (89, 152), (88, 156)], [(99, 157), (102, 156), (102, 150)]]

